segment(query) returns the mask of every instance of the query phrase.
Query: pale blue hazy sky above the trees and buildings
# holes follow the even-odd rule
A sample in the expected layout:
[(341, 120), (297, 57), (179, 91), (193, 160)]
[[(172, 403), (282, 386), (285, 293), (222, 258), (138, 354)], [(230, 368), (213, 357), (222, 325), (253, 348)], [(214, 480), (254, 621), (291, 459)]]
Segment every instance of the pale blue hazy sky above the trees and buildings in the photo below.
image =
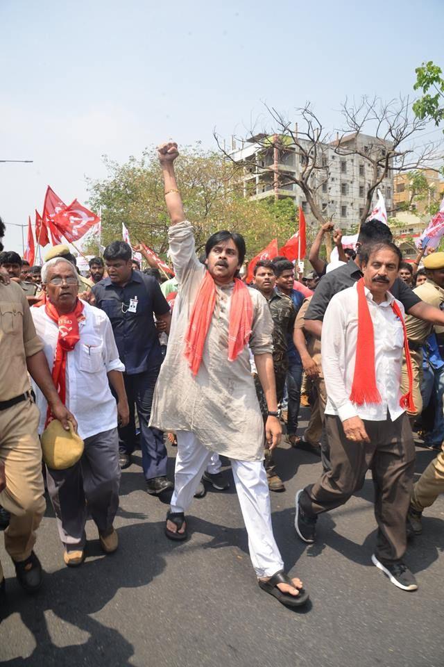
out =
[(46, 185), (87, 199), (102, 156), (123, 162), (174, 138), (214, 147), (262, 101), (310, 100), (325, 126), (341, 101), (412, 94), (422, 60), (444, 68), (441, 0), (0, 0), (0, 215), (21, 252)]

